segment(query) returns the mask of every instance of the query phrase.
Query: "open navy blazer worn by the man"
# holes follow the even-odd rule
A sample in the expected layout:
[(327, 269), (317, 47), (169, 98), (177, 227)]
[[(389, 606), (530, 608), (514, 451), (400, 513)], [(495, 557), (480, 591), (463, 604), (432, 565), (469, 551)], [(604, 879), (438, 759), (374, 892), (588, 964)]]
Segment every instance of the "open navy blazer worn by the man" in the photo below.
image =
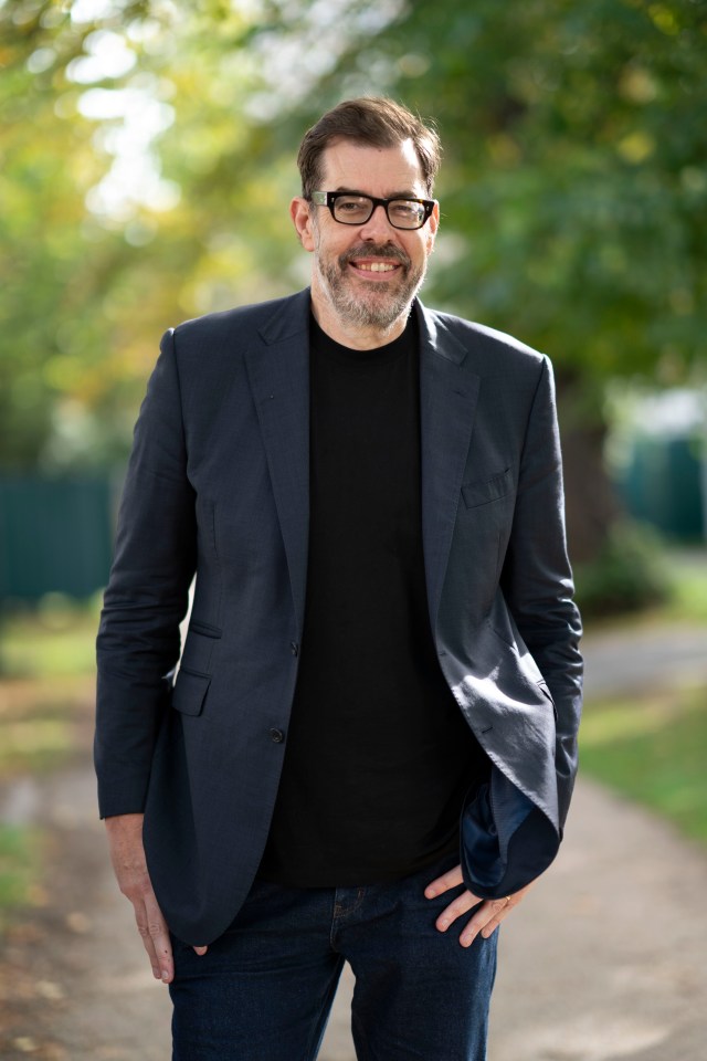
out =
[[(555, 857), (577, 769), (580, 623), (552, 375), (415, 303), (430, 624), (492, 779), (461, 818), (467, 885)], [(304, 624), (309, 292), (168, 332), (135, 430), (98, 634), (103, 817), (145, 812), (170, 928), (219, 936), (257, 870)], [(181, 662), (179, 627), (196, 590)]]

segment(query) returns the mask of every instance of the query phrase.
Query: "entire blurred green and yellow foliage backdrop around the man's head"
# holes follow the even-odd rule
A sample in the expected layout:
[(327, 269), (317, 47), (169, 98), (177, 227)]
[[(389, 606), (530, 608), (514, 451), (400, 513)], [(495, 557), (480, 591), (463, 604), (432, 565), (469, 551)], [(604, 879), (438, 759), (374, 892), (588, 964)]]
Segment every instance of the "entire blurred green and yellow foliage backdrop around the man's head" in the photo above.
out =
[(704, 379), (706, 44), (693, 0), (0, 2), (0, 466), (116, 461), (165, 328), (306, 283), (296, 147), (361, 93), (442, 134), (425, 297), (547, 350), (580, 429)]

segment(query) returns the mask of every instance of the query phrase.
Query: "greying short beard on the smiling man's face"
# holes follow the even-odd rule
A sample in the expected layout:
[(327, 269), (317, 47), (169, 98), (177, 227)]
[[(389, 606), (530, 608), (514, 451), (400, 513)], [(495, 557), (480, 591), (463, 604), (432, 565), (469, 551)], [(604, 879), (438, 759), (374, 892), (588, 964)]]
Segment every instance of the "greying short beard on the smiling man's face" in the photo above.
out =
[[(380, 251), (373, 253), (380, 255)], [(376, 328), (389, 332), (401, 316), (407, 316), (415, 294), (424, 280), (424, 266), (415, 272), (410, 271), (402, 285), (388, 282), (377, 283), (368, 293), (356, 292), (345, 280), (346, 265), (354, 252), (342, 254), (336, 265), (324, 265), (318, 262), (319, 275), (331, 300), (331, 305), (342, 321), (354, 327)], [(382, 256), (393, 258), (392, 254)], [(395, 256), (397, 261), (401, 261)], [(371, 285), (372, 287), (372, 285)]]

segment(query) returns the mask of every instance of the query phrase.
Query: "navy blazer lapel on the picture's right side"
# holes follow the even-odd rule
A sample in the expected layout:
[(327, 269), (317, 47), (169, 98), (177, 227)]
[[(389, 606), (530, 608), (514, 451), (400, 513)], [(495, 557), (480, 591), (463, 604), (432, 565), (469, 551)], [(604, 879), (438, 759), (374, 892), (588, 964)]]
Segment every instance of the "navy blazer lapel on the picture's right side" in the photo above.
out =
[(462, 371), (466, 348), (418, 303), (422, 542), (434, 637), (481, 379)]

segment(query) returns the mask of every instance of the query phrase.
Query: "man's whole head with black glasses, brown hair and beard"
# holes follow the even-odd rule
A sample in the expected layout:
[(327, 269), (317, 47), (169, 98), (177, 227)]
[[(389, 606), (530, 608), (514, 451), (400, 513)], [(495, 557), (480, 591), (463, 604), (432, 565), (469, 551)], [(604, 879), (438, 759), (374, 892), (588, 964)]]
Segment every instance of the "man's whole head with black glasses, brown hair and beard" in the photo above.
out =
[(424, 279), (439, 223), (429, 199), (436, 134), (390, 99), (339, 104), (307, 133), (291, 213), (314, 254), (313, 309), (348, 346), (395, 338)]

